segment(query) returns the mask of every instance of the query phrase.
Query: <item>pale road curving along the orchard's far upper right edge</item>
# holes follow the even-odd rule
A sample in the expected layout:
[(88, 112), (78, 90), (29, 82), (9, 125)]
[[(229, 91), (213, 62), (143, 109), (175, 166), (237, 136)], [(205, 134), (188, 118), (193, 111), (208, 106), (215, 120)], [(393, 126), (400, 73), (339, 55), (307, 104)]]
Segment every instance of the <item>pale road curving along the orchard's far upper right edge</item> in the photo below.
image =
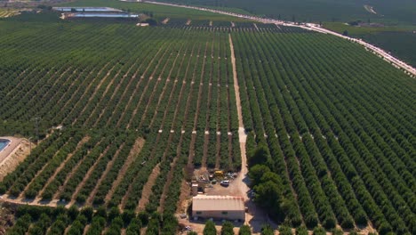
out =
[(349, 36), (343, 36), (339, 33), (333, 32), (331, 30), (321, 28), (317, 24), (314, 24), (314, 23), (305, 23), (305, 24), (302, 24), (302, 25), (298, 25), (295, 22), (291, 22), (291, 21), (282, 21), (282, 20), (275, 20), (275, 19), (268, 19), (268, 18), (260, 18), (260, 17), (256, 17), (256, 16), (251, 16), (251, 15), (237, 14), (237, 13), (233, 13), (233, 12), (224, 12), (224, 11), (214, 10), (214, 9), (209, 9), (209, 8), (204, 8), (204, 7), (196, 7), (196, 6), (180, 5), (180, 4), (166, 4), (166, 3), (159, 3), (159, 2), (154, 2), (154, 1), (146, 1), (146, 3), (148, 3), (148, 4), (170, 5), (170, 6), (174, 6), (174, 7), (195, 9), (195, 10), (204, 11), (204, 12), (214, 12), (214, 13), (234, 16), (234, 17), (237, 17), (237, 18), (243, 18), (243, 19), (247, 19), (247, 20), (255, 20), (255, 21), (258, 21), (258, 22), (262, 22), (262, 23), (271, 23), (271, 24), (276, 24), (276, 25), (284, 25), (284, 26), (304, 28), (304, 29), (313, 30), (313, 31), (316, 31), (316, 32), (319, 32), (319, 33), (339, 36), (339, 37), (348, 39), (349, 41), (356, 42), (360, 45), (364, 45), (364, 47), (367, 48), (368, 50), (371, 50), (373, 53), (376, 53), (379, 56), (383, 57), (385, 61), (391, 62), (396, 68), (404, 69), (408, 74), (410, 74), (412, 76), (416, 76), (416, 69), (414, 69), (412, 66), (406, 64), (404, 61), (401, 61), (401, 60), (397, 59), (396, 57), (392, 56), (391, 54), (384, 51), (383, 49), (381, 49), (381, 48), (379, 48), (375, 45), (371, 45), (369, 43), (366, 43), (361, 39), (356, 39), (356, 38), (349, 37)]

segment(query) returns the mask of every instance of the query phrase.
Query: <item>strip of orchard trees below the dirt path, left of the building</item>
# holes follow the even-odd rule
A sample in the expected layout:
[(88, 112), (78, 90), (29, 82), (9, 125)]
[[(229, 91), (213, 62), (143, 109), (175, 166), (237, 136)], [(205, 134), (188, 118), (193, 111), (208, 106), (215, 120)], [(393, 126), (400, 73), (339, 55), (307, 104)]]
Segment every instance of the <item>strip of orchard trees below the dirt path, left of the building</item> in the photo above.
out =
[[(60, 207), (28, 207), (17, 209), (17, 219), (7, 234), (140, 234), (140, 229), (147, 227), (146, 234), (174, 234), (177, 224), (172, 215), (156, 216), (148, 219), (147, 215), (138, 216), (120, 213), (117, 210), (99, 209), (95, 213), (92, 207), (77, 210)], [(152, 233), (153, 232), (153, 233)]]

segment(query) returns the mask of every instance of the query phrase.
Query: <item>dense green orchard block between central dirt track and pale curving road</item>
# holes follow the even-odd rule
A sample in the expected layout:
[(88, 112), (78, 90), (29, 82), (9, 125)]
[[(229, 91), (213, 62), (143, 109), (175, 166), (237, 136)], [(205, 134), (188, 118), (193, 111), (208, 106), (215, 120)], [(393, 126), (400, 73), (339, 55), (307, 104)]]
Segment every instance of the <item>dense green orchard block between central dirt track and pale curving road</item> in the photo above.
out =
[(415, 233), (414, 79), (332, 36), (232, 36), (248, 162), (279, 175), (286, 220)]

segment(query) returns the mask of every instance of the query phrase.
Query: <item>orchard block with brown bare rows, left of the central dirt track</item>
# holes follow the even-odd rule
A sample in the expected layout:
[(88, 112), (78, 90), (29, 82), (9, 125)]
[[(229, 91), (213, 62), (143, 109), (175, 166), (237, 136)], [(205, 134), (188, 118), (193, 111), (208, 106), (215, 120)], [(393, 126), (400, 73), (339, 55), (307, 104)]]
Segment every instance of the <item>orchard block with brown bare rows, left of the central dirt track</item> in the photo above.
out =
[[(0, 182), (6, 200), (139, 212), (143, 196), (147, 212), (172, 215), (185, 166), (240, 167), (227, 33), (6, 22), (1, 129), (33, 133), (40, 117), (49, 133)], [(52, 126), (63, 129), (51, 134)]]

